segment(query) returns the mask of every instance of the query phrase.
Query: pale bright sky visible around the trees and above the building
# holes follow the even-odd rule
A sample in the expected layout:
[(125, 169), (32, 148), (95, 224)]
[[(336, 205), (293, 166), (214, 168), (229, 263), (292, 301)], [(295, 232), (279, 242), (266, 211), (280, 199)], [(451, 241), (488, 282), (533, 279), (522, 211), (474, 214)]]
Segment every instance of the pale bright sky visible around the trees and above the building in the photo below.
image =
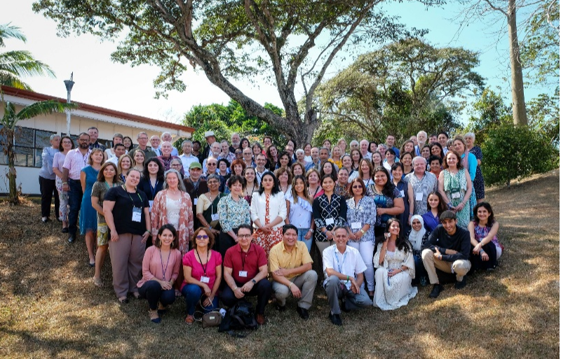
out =
[[(510, 96), (508, 79), (508, 37), (496, 41), (494, 31), (500, 31), (504, 22), (501, 17), (485, 23), (475, 22), (462, 27), (454, 21), (461, 15), (457, 1), (442, 8), (429, 8), (410, 1), (392, 1), (384, 5), (384, 10), (399, 15), (409, 27), (429, 29), (428, 41), (438, 46), (462, 46), (480, 53), (478, 71), (487, 79), (487, 85), (498, 87), (506, 99)], [(55, 97), (67, 96), (63, 80), (74, 73), (72, 100), (102, 106), (118, 111), (142, 115), (158, 120), (178, 122), (182, 114), (198, 104), (224, 103), (229, 97), (212, 85), (204, 74), (189, 69), (183, 76), (187, 84), (185, 92), (169, 92), (168, 99), (154, 99), (153, 80), (159, 73), (156, 66), (142, 65), (131, 67), (129, 64), (111, 62), (111, 52), (116, 43), (102, 42), (88, 34), (67, 38), (57, 36), (53, 20), (36, 14), (32, 10), (33, 0), (0, 0), (0, 23), (11, 22), (20, 27), (27, 37), (27, 43), (6, 41), (5, 50), (28, 50), (36, 59), (48, 64), (56, 73), (56, 78), (25, 78), (33, 90)], [(365, 49), (365, 52), (369, 49)], [(374, 49), (372, 49), (374, 50)], [(335, 60), (327, 78), (349, 65), (349, 60)], [(282, 108), (282, 103), (272, 85), (259, 82), (258, 86), (249, 81), (236, 85), (257, 102), (269, 102)], [(539, 92), (527, 90), (526, 99), (535, 97)]]

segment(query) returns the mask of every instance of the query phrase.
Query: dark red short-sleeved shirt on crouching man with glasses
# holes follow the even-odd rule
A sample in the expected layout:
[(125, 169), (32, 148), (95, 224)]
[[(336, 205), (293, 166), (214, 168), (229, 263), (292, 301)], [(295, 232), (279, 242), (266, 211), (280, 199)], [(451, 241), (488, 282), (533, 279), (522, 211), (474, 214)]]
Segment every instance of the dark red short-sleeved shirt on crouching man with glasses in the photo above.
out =
[[(241, 246), (236, 244), (229, 248), (224, 255), (224, 267), (232, 269), (232, 277), (238, 284), (248, 283), (257, 276), (259, 267), (264, 265), (267, 265), (265, 251), (255, 243), (250, 244), (248, 253), (243, 252)], [(240, 271), (248, 272), (248, 276), (240, 276)]]

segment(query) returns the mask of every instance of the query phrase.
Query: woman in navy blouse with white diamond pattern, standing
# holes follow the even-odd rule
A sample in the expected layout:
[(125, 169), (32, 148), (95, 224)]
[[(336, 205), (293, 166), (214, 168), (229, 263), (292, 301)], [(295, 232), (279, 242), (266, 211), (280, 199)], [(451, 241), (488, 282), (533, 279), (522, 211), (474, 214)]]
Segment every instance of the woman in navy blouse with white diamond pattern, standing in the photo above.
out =
[(343, 197), (335, 195), (335, 182), (330, 176), (321, 178), (323, 194), (313, 200), (313, 221), (316, 224), (314, 239), (320, 250), (320, 256), (328, 246), (334, 242), (333, 230), (335, 227), (346, 224), (346, 202)]

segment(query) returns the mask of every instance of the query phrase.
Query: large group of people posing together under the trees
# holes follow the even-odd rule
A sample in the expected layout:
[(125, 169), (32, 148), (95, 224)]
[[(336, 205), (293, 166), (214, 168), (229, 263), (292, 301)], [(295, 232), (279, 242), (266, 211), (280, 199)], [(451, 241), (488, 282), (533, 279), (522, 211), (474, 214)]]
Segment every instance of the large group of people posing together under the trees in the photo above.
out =
[(263, 145), (238, 134), (219, 142), (209, 131), (204, 144), (183, 141), (182, 154), (167, 132), (140, 132), (136, 147), (114, 134), (113, 148), (97, 134), (79, 134), (76, 148), (51, 136), (41, 220), (54, 195), (69, 243), (78, 228), (85, 237), (95, 286), (104, 286), (109, 249), (117, 299), (146, 298), (154, 323), (177, 297), (189, 324), (197, 308), (254, 296), (260, 325), (269, 302), (284, 311), (290, 296), (305, 320), (315, 250), (334, 325), (341, 311), (398, 309), (428, 283), (438, 297), (452, 274), (464, 288), (466, 275), (494, 269), (503, 253), (472, 133), (421, 131), (400, 148), (393, 135), (297, 148), (269, 136)]

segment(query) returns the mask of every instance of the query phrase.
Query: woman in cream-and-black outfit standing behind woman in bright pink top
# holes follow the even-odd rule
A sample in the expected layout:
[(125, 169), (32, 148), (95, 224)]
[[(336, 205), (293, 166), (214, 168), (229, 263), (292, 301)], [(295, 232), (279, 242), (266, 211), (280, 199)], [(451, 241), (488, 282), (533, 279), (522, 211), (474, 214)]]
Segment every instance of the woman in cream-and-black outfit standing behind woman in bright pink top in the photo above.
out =
[(208, 192), (198, 197), (197, 218), (201, 225), (208, 228), (210, 233), (216, 238), (220, 234), (218, 202), (222, 197), (226, 196), (226, 194), (219, 191), (220, 180), (219, 176), (216, 174), (208, 176), (206, 184), (208, 185)]

